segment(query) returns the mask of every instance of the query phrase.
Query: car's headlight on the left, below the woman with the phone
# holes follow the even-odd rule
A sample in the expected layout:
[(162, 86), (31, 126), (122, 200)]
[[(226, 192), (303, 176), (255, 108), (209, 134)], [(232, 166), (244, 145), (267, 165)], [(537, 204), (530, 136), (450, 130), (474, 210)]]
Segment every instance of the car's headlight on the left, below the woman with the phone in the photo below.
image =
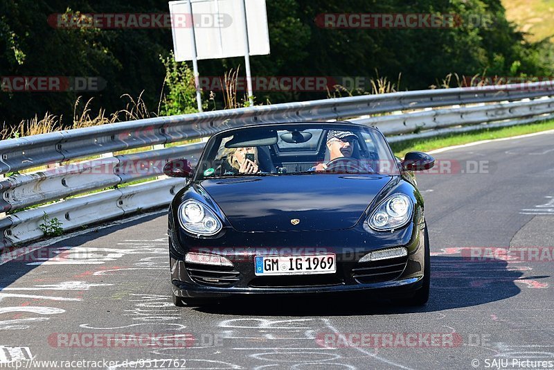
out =
[(196, 200), (187, 200), (179, 206), (179, 220), (186, 231), (196, 235), (215, 235), (223, 227), (217, 215)]

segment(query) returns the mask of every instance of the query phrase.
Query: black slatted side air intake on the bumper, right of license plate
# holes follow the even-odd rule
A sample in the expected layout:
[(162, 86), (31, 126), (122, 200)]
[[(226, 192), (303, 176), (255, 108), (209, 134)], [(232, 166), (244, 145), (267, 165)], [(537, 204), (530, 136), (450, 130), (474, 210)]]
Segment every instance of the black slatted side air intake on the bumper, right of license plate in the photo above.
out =
[(358, 263), (359, 267), (352, 269), (352, 277), (361, 284), (391, 281), (402, 274), (406, 263), (408, 256)]

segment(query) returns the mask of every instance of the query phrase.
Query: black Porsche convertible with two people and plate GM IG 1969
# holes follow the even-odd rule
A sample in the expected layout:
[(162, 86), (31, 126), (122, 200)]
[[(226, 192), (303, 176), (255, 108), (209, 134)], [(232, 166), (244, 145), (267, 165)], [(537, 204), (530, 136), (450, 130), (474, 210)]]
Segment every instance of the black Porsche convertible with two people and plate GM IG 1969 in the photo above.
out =
[(348, 122), (249, 125), (219, 132), (169, 210), (175, 305), (233, 294), (364, 291), (429, 299), (429, 238), (413, 171), (434, 159), (393, 155), (375, 127)]

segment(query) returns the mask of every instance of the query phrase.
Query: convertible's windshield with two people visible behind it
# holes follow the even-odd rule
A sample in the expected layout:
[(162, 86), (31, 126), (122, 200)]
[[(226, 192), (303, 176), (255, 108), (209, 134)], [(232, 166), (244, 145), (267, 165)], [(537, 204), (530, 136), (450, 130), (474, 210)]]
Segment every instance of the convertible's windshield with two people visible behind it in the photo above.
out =
[(377, 130), (314, 123), (216, 134), (199, 161), (196, 179), (329, 173), (399, 175), (396, 159)]

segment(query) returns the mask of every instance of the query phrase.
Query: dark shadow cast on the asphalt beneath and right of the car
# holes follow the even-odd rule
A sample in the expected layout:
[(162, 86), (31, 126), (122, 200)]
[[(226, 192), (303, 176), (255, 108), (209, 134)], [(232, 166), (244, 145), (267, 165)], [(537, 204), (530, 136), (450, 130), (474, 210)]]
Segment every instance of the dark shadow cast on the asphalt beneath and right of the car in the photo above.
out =
[[(522, 277), (520, 267), (490, 259), (472, 262), (462, 256), (431, 257), (431, 297), (425, 306), (402, 306), (377, 291), (298, 296), (237, 297), (195, 308), (220, 315), (350, 316), (434, 312), (478, 306), (514, 297), (520, 286), (549, 276)], [(517, 285), (515, 281), (518, 281)], [(519, 285), (519, 286), (518, 286)], [(409, 301), (409, 299), (406, 299)]]

